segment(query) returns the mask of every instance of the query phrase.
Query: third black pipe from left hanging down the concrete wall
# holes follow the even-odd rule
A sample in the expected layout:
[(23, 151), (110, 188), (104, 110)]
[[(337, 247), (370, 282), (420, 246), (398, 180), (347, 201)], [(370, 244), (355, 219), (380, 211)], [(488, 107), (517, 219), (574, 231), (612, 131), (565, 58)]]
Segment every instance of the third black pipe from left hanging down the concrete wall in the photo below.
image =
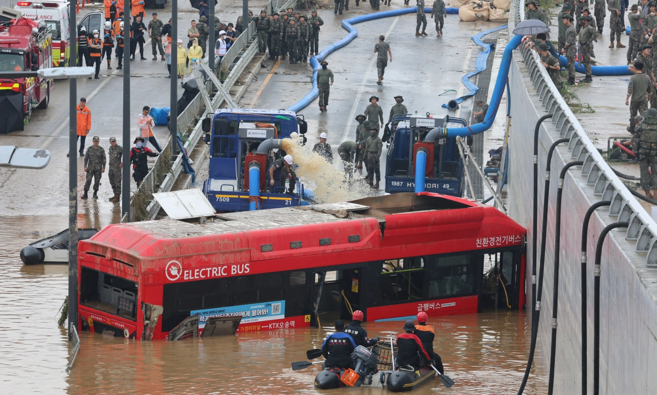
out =
[(555, 277), (553, 283), (552, 291), (552, 341), (550, 346), (550, 373), (549, 380), (547, 382), (547, 393), (548, 395), (553, 394), (555, 387), (555, 360), (556, 360), (556, 326), (557, 326), (557, 314), (558, 314), (558, 303), (559, 303), (559, 260), (560, 260), (560, 247), (561, 247), (561, 198), (564, 190), (564, 178), (566, 177), (566, 172), (573, 166), (583, 165), (583, 161), (572, 161), (566, 163), (566, 165), (561, 169), (559, 175), (559, 182), (556, 190), (556, 208), (555, 208)]

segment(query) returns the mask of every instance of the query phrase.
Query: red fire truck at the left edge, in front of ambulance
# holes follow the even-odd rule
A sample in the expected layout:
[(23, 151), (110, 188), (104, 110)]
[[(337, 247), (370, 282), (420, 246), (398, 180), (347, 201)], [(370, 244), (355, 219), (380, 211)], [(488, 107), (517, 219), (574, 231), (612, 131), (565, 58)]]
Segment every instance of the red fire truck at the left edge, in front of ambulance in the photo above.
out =
[[(18, 18), (0, 22), (0, 72), (37, 71), (53, 64), (53, 36), (43, 21)], [(6, 120), (0, 133), (23, 130), (35, 107), (47, 108), (53, 80), (0, 79), (0, 108)]]

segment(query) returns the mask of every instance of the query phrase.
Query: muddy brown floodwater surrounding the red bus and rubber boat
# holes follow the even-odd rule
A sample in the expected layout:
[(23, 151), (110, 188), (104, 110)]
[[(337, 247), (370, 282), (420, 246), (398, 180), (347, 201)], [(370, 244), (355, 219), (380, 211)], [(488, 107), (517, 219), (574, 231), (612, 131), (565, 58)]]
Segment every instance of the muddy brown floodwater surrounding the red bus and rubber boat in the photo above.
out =
[[(332, 331), (290, 328), (185, 341), (125, 341), (81, 333), (78, 358), (69, 358), (66, 332), (57, 326), (67, 295), (64, 265), (23, 266), (20, 249), (65, 229), (66, 217), (2, 217), (0, 228), (0, 371), (3, 394), (316, 394), (318, 365), (292, 371), (319, 348)], [(518, 391), (530, 344), (524, 312), (491, 310), (482, 314), (432, 318), (435, 347), (445, 374), (456, 384), (447, 390), (439, 379), (414, 394), (512, 394)], [(365, 323), (369, 335), (401, 331), (402, 322)], [(537, 353), (538, 355), (539, 353)], [(526, 394), (545, 392), (535, 367)], [(540, 376), (540, 374), (539, 374)], [(382, 389), (340, 388), (334, 394), (381, 394)]]

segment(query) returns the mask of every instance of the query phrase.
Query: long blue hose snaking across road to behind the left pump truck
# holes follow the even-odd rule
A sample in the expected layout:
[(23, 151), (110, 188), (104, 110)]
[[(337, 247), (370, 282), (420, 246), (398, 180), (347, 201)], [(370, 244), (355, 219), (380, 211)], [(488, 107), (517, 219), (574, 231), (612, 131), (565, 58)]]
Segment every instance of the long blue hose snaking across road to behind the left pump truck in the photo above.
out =
[[(290, 106), (287, 110), (298, 112), (302, 110), (302, 108), (310, 104), (310, 102), (317, 97), (317, 95), (319, 94), (319, 90), (317, 89), (317, 71), (320, 69), (319, 62), (324, 60), (324, 58), (326, 58), (328, 54), (330, 54), (331, 52), (344, 47), (345, 45), (350, 43), (351, 40), (357, 37), (358, 31), (356, 30), (356, 28), (352, 26), (353, 24), (366, 22), (368, 20), (374, 20), (379, 18), (388, 18), (388, 16), (413, 14), (414, 12), (417, 12), (417, 7), (408, 7), (405, 9), (374, 12), (373, 14), (359, 15), (353, 18), (342, 20), (342, 27), (345, 28), (349, 33), (347, 33), (347, 35), (344, 36), (344, 38), (342, 38), (337, 43), (332, 43), (328, 45), (328, 47), (325, 47), (321, 52), (319, 52), (319, 54), (316, 54), (315, 56), (312, 56), (310, 58), (310, 66), (312, 66), (313, 68), (313, 89), (311, 89), (311, 91), (308, 94), (306, 94), (304, 98), (292, 104), (292, 106)], [(424, 7), (424, 12), (430, 14), (431, 12), (433, 12), (433, 9), (431, 7)], [(455, 9), (452, 7), (447, 8), (447, 14), (458, 14), (458, 13), (459, 13), (459, 9)]]

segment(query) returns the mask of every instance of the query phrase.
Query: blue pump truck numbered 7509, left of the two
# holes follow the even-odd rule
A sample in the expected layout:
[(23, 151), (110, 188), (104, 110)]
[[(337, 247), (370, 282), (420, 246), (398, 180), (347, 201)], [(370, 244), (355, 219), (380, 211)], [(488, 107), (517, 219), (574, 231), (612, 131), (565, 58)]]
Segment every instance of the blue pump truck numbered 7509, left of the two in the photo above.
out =
[[(265, 140), (280, 141), (292, 133), (304, 135), (307, 125), (303, 115), (288, 110), (221, 108), (203, 120), (202, 129), (204, 141), (210, 145), (210, 171), (203, 193), (217, 213), (308, 204), (299, 181), (294, 194), (286, 193), (284, 187), (269, 190), (269, 167), (283, 152), (258, 150)], [(253, 173), (251, 169), (257, 170)], [(252, 188), (250, 180), (254, 180)]]

